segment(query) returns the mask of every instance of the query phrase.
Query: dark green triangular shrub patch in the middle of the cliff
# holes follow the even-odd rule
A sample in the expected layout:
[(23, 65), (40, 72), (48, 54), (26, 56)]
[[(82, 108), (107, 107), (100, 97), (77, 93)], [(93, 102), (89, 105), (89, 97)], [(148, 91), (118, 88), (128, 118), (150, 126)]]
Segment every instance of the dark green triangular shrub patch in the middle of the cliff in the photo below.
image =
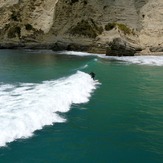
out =
[(89, 21), (82, 20), (75, 27), (70, 29), (70, 34), (96, 38), (98, 34), (103, 32), (103, 28), (96, 25), (93, 19)]

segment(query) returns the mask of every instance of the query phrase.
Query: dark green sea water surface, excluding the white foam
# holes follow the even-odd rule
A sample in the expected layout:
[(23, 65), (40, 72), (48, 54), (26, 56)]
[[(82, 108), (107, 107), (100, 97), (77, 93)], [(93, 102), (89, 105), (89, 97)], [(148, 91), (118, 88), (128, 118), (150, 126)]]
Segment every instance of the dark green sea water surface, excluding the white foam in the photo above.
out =
[(1, 147), (0, 162), (162, 163), (162, 66), (126, 64), (95, 56), (0, 51), (1, 87), (39, 84), (68, 77), (77, 70), (94, 71), (101, 83), (89, 102), (74, 104), (70, 111), (61, 113), (66, 122), (46, 125), (32, 137)]

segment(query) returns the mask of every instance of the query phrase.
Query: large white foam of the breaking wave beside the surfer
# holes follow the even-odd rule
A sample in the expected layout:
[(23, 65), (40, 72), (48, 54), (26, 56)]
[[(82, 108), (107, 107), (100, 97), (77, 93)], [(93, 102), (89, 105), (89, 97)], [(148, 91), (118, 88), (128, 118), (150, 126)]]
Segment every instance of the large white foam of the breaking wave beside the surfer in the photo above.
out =
[(0, 146), (28, 138), (45, 125), (64, 122), (58, 112), (86, 103), (98, 84), (90, 75), (76, 74), (41, 84), (0, 84)]

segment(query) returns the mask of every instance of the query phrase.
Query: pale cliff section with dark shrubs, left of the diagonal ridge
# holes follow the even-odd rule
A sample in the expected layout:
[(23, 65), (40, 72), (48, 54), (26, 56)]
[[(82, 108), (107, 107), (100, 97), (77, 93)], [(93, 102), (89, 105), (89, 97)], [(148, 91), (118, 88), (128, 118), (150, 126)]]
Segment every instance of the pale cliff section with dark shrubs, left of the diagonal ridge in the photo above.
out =
[(1, 0), (1, 40), (35, 41), (49, 32), (53, 25), (58, 0)]

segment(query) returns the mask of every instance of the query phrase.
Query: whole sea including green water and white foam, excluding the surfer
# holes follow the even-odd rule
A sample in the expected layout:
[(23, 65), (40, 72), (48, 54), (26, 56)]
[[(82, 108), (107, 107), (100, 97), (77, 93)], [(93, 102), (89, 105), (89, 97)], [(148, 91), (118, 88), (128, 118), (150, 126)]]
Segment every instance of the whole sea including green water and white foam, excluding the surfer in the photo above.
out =
[(0, 50), (0, 163), (29, 162), (162, 163), (163, 57)]

